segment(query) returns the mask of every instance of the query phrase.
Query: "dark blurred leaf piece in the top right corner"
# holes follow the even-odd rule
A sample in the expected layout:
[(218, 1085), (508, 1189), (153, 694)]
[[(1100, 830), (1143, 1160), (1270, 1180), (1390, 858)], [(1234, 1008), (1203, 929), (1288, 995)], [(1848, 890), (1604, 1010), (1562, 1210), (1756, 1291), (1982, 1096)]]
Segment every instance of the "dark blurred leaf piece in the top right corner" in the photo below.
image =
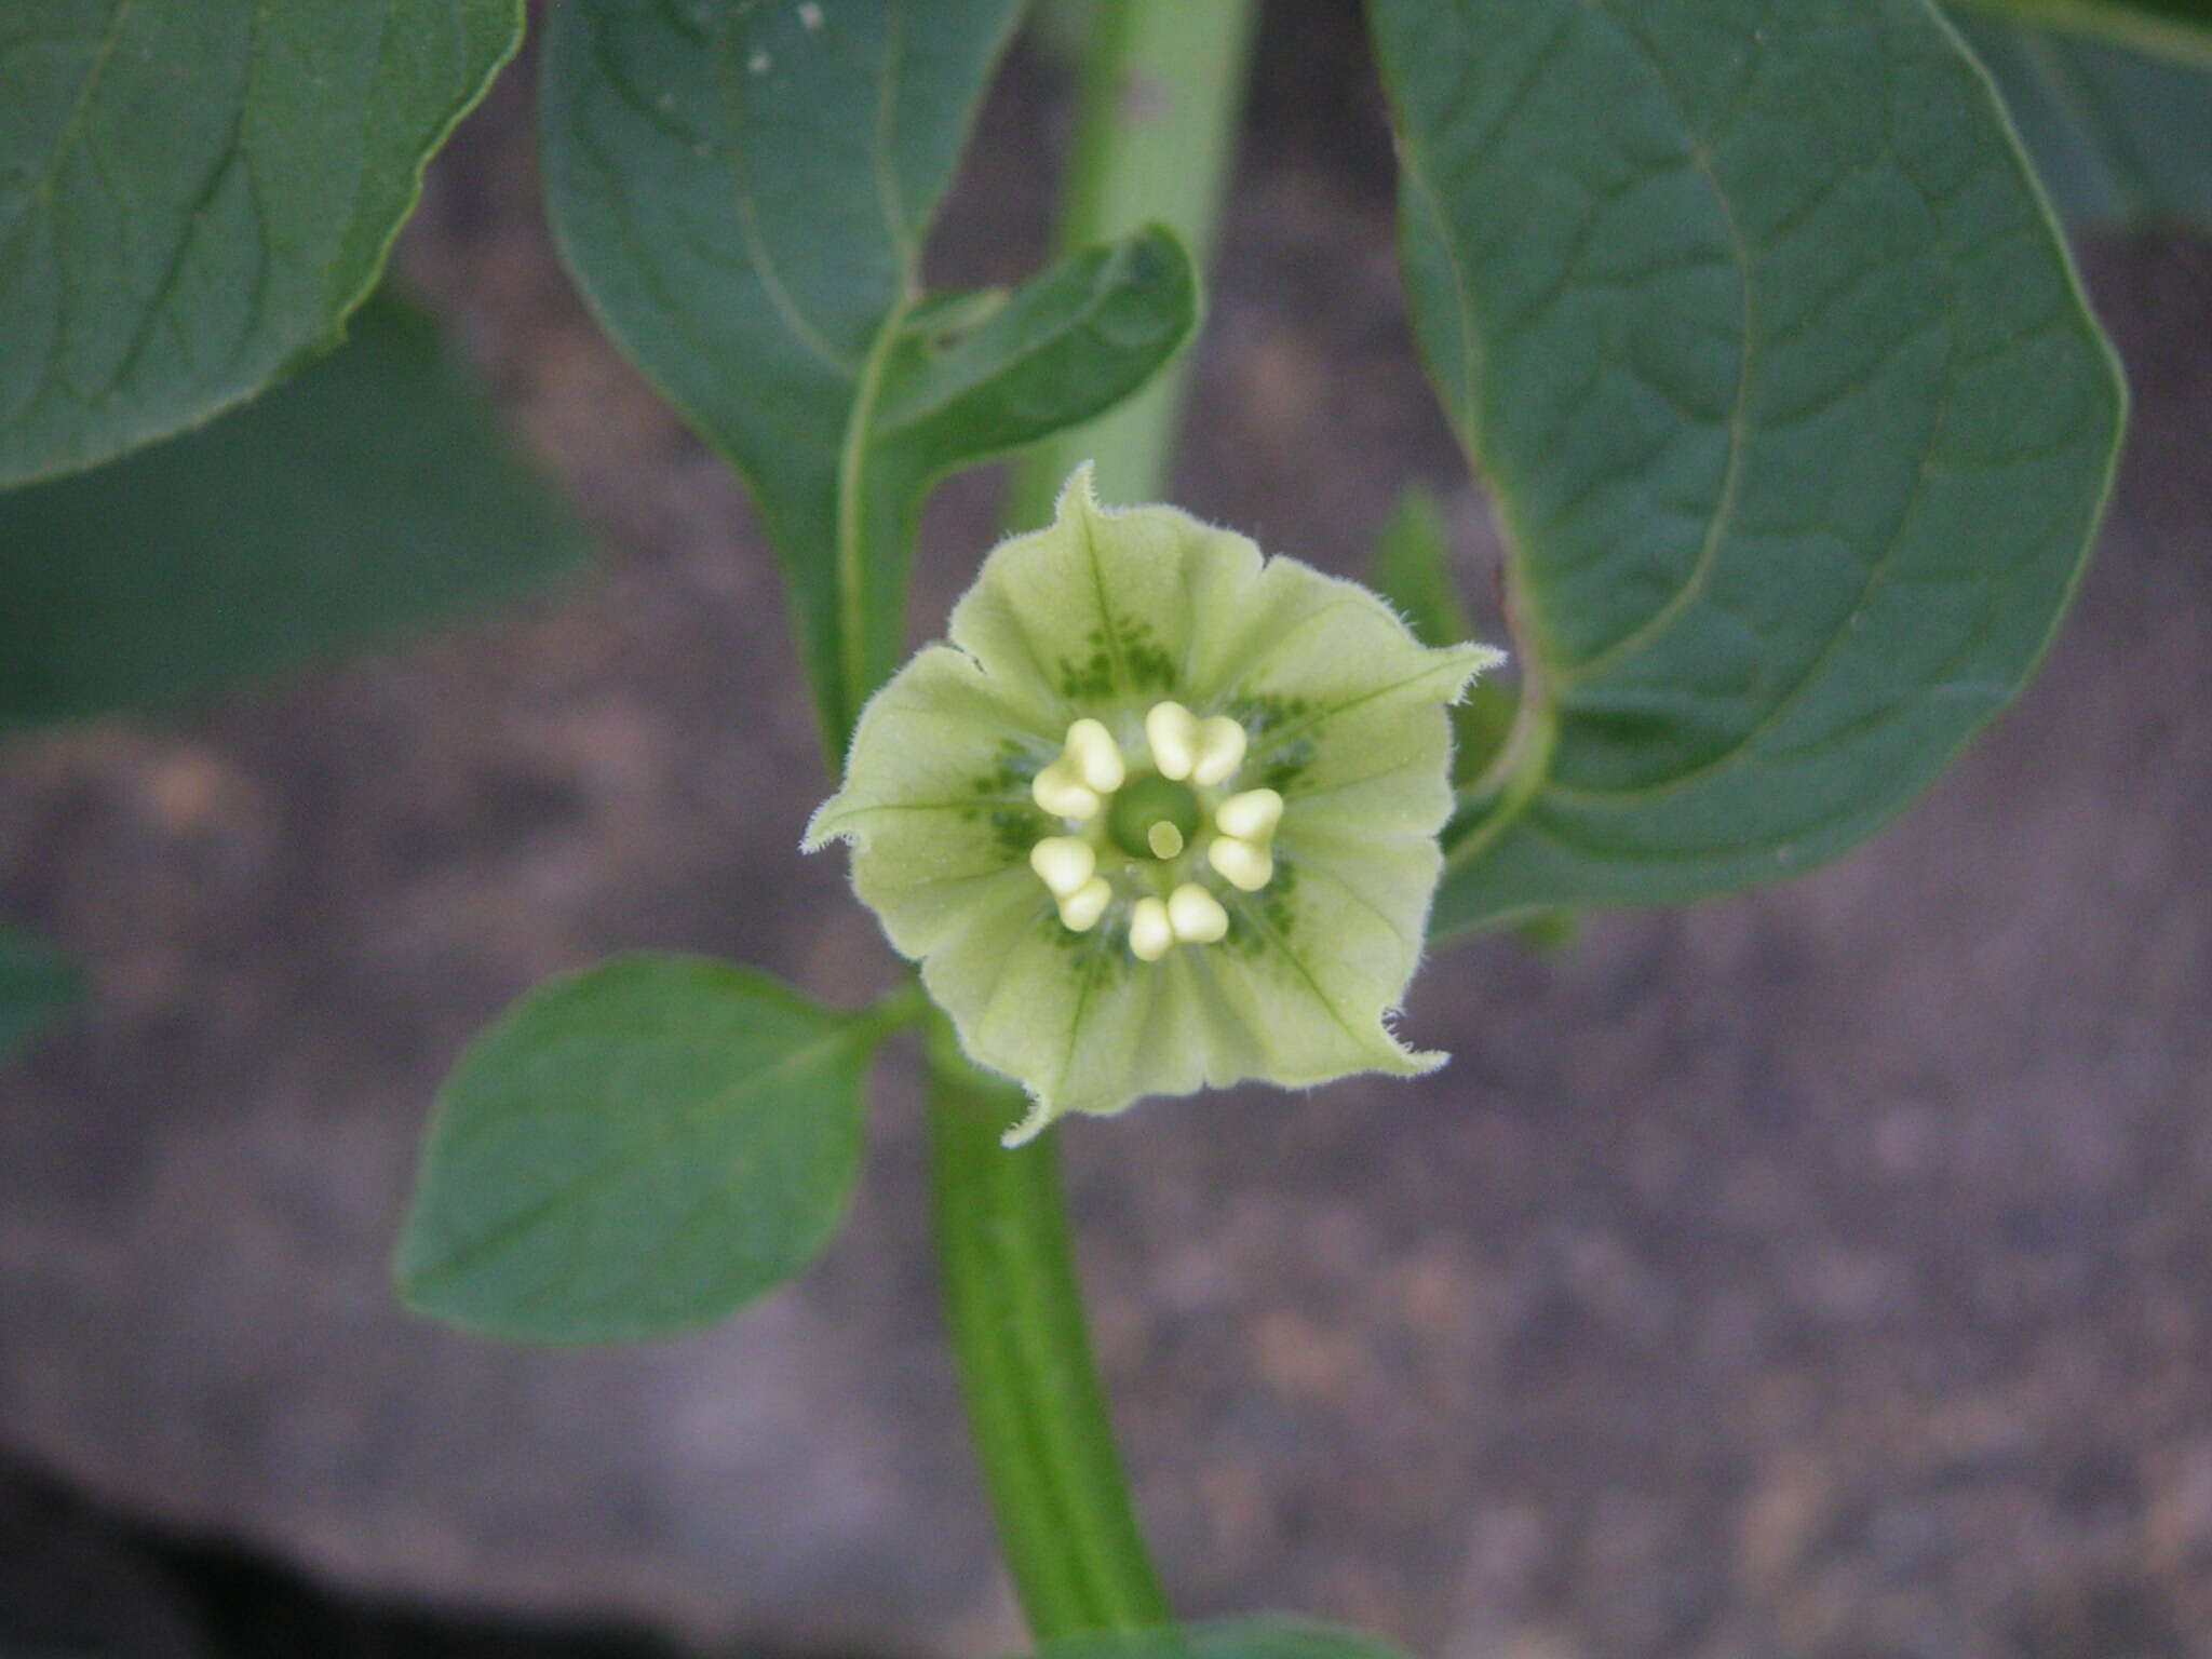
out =
[(2212, 73), (1982, 18), (1958, 27), (2070, 226), (2212, 237)]

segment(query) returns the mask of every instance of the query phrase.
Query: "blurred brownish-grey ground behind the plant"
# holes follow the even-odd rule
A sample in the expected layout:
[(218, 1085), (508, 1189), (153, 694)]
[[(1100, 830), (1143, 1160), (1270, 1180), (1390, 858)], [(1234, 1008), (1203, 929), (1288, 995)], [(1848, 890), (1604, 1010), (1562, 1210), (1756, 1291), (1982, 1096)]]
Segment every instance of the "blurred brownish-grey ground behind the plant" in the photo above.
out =
[[(1411, 478), (1495, 557), (1405, 330), (1352, 7), (1270, 11), (1179, 498), (1356, 571)], [(1024, 51), (938, 243), (1031, 270)], [(1104, 1365), (1188, 1613), (1440, 1659), (2212, 1655), (2212, 259), (2090, 257), (2137, 389), (2026, 699), (1790, 887), (1442, 953), (1420, 1086), (1066, 1130)], [(529, 66), (405, 270), (602, 533), (491, 626), (0, 759), (0, 907), (97, 978), (0, 1077), (0, 1447), (343, 1586), (796, 1650), (1018, 1644), (967, 1467), (905, 1060), (852, 1228), (635, 1352), (484, 1347), (385, 1290), (425, 1106), (622, 947), (865, 995), (737, 487), (593, 330)], [(991, 540), (929, 518), (918, 615)]]

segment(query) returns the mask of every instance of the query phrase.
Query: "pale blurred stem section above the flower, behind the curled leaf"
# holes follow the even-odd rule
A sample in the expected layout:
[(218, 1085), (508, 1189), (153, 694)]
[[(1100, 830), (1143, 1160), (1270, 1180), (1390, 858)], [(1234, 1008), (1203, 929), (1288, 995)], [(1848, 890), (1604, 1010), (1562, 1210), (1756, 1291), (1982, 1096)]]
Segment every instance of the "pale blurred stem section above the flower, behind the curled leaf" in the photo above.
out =
[[(1234, 159), (1250, 44), (1250, 0), (1099, 0), (1084, 53), (1057, 252), (1161, 221), (1206, 270)], [(1082, 460), (1097, 462), (1104, 500), (1159, 500), (1188, 365), (1186, 354), (1113, 414), (1037, 445), (1015, 469), (1006, 529), (1044, 524), (1062, 480)]]

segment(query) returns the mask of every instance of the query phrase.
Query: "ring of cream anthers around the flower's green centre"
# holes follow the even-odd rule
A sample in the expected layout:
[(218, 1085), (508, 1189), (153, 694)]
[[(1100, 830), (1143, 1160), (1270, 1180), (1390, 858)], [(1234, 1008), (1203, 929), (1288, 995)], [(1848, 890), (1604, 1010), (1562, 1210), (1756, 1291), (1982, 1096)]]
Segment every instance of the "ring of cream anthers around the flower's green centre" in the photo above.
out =
[(1228, 714), (1199, 719), (1181, 703), (1152, 703), (1144, 743), (1150, 765), (1133, 768), (1104, 721), (1068, 726), (1060, 757), (1031, 785), (1066, 834), (1040, 841), (1029, 867), (1075, 933), (1097, 927), (1128, 887), (1128, 949), (1157, 962), (1177, 945), (1212, 945), (1230, 931), (1221, 900), (1194, 880), (1201, 865), (1245, 894), (1274, 878), (1283, 796), (1230, 790), (1245, 730)]

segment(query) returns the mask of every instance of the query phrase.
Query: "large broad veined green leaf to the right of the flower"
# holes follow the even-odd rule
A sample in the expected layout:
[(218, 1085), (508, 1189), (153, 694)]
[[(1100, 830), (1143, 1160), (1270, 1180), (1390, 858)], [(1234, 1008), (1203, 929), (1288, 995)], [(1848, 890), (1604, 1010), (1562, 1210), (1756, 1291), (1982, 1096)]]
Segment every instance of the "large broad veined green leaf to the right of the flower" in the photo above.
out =
[(1376, 0), (1407, 288), (1522, 712), (1436, 925), (1867, 836), (2035, 668), (2121, 385), (1920, 0)]

